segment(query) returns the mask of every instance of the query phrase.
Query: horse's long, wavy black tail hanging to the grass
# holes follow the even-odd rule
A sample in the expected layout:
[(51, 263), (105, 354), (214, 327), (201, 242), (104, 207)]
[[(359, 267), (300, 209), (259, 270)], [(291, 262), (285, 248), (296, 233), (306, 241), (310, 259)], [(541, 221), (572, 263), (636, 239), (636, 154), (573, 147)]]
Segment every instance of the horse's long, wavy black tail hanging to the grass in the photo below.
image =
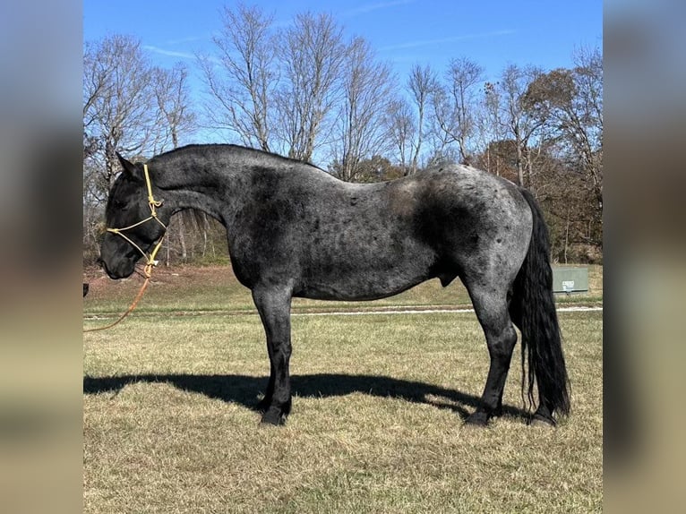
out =
[[(555, 411), (568, 415), (569, 378), (562, 355), (562, 335), (553, 298), (548, 229), (534, 196), (523, 188), (520, 192), (527, 200), (534, 218), (531, 243), (515, 278), (510, 303), (510, 313), (522, 336), (522, 398), (527, 388), (529, 407), (534, 404), (536, 381), (543, 404), (539, 405), (539, 411), (547, 407), (549, 415)], [(525, 361), (528, 361), (528, 373)]]

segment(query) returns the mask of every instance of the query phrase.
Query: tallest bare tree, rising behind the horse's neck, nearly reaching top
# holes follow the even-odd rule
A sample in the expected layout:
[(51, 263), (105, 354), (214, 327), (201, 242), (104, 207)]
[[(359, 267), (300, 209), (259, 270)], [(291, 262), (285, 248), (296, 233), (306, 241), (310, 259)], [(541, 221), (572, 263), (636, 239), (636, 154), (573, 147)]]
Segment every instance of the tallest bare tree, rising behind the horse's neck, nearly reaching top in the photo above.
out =
[(216, 128), (236, 133), (245, 146), (270, 150), (270, 109), (279, 82), (272, 17), (258, 7), (225, 7), (223, 27), (213, 39), (219, 55), (200, 56), (209, 92), (207, 116)]

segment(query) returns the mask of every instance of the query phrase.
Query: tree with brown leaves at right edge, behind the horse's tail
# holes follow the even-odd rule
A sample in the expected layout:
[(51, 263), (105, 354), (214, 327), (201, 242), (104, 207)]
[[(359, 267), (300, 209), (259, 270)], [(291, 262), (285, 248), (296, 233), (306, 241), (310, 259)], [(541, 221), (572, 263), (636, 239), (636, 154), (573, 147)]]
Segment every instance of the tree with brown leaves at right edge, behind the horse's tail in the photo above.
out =
[[(545, 120), (545, 140), (562, 161), (549, 181), (546, 209), (567, 260), (591, 259), (603, 244), (603, 64), (600, 51), (582, 50), (572, 69), (541, 74), (529, 84), (527, 107)], [(555, 227), (559, 225), (561, 227)], [(579, 256), (579, 252), (586, 254)]]

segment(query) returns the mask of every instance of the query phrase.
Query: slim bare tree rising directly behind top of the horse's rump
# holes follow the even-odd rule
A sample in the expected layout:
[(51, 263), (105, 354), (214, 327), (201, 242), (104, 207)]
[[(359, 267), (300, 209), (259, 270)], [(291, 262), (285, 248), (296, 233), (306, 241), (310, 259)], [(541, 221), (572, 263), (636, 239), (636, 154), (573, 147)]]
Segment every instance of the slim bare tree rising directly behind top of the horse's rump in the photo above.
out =
[(469, 164), (470, 139), (476, 132), (476, 91), (484, 69), (467, 57), (452, 59), (446, 72), (447, 84), (436, 89), (433, 107), (444, 143), (458, 145), (459, 160)]

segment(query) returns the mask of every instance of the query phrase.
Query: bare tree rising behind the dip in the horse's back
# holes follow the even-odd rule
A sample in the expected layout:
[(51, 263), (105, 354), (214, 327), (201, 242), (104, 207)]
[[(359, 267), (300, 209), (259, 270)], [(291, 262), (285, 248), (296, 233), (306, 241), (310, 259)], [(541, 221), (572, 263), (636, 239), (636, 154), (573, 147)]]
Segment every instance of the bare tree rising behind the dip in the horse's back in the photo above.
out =
[(388, 64), (378, 63), (369, 42), (356, 38), (347, 48), (342, 67), (343, 97), (332, 143), (334, 173), (346, 181), (357, 179), (360, 163), (380, 155), (387, 145), (382, 116), (388, 109), (393, 81)]

